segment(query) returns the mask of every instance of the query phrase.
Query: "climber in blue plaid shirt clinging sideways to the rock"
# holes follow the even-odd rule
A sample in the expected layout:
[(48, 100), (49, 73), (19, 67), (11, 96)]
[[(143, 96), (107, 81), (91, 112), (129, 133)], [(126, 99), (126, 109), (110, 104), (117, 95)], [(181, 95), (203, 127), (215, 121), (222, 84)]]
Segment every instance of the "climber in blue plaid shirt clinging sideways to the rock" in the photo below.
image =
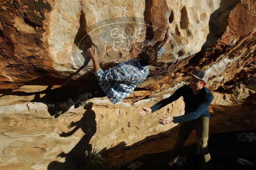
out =
[(60, 104), (48, 104), (49, 112), (61, 114), (63, 110), (68, 110), (74, 104), (82, 107), (88, 99), (94, 97), (107, 96), (115, 104), (130, 95), (149, 74), (149, 66), (156, 63), (159, 56), (165, 51), (171, 39), (171, 29), (167, 29), (167, 36), (161, 46), (155, 50), (152, 46), (144, 46), (142, 52), (136, 58), (120, 63), (117, 66), (102, 71), (97, 62), (96, 48), (87, 50), (88, 57), (93, 62), (93, 70), (97, 81), (86, 84), (74, 96), (68, 98)]

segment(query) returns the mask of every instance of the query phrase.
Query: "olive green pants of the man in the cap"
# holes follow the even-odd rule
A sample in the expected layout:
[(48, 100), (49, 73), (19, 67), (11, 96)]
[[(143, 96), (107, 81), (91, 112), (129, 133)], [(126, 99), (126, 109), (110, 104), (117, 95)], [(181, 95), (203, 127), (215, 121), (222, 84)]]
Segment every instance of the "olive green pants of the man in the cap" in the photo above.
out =
[(198, 152), (201, 154), (204, 169), (211, 169), (210, 154), (207, 146), (209, 118), (201, 117), (196, 120), (182, 122), (176, 138), (175, 148), (173, 150), (172, 162), (175, 163), (179, 157), (180, 151), (193, 130), (197, 131)]

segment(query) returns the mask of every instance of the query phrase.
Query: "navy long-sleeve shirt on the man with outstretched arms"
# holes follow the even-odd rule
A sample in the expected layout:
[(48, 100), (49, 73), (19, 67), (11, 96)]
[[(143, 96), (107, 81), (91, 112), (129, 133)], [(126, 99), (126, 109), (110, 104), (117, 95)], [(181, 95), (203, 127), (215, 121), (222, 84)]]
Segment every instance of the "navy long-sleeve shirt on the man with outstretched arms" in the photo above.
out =
[(210, 118), (208, 107), (213, 101), (213, 94), (207, 88), (203, 88), (198, 95), (193, 95), (189, 85), (177, 89), (173, 95), (152, 106), (152, 113), (178, 100), (181, 96), (185, 103), (185, 114), (173, 117), (174, 123), (186, 122), (201, 117)]

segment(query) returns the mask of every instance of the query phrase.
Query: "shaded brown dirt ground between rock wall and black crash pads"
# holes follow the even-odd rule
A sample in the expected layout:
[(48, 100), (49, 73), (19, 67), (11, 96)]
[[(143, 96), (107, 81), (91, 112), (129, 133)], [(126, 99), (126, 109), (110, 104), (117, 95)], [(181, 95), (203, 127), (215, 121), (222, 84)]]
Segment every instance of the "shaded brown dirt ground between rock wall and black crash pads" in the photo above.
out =
[[(225, 131), (256, 129), (256, 106), (241, 107), (241, 102), (228, 106), (214, 106), (211, 113), (209, 134)], [(120, 166), (147, 153), (156, 153), (173, 150), (177, 129), (167, 137), (150, 140), (133, 148), (127, 148), (116, 152), (107, 152), (104, 156), (111, 169), (119, 169)], [(190, 133), (185, 145), (196, 143), (196, 131)]]

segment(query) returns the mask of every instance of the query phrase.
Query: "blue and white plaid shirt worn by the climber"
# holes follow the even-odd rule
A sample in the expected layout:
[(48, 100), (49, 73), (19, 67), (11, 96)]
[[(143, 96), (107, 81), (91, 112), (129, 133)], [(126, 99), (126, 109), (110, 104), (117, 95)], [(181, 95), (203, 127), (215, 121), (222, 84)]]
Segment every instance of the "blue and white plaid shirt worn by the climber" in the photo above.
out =
[[(164, 51), (165, 48), (158, 47), (158, 58)], [(148, 74), (149, 66), (143, 67), (138, 59), (133, 58), (104, 72), (98, 69), (96, 78), (109, 100), (115, 104), (130, 95)]]

